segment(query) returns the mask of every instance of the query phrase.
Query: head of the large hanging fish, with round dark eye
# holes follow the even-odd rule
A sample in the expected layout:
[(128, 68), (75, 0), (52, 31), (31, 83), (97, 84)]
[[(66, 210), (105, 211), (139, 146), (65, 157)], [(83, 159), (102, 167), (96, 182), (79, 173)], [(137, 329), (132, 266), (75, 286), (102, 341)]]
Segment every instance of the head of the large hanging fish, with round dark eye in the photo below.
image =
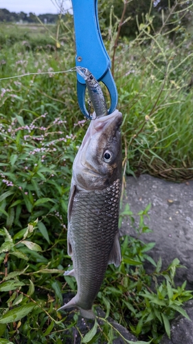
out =
[(122, 114), (91, 120), (73, 162), (73, 180), (80, 190), (103, 189), (122, 178)]

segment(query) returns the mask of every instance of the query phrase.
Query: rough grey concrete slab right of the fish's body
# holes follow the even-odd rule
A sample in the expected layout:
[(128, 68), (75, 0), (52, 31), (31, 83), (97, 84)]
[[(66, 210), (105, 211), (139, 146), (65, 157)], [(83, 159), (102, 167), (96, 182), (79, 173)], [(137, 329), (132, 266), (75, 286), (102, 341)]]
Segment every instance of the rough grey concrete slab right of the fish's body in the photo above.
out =
[[(178, 269), (177, 277), (181, 282), (187, 280), (188, 288), (193, 289), (193, 180), (178, 184), (150, 175), (137, 179), (129, 176), (124, 204), (126, 202), (133, 213), (152, 204), (150, 219), (146, 218), (145, 222), (153, 233), (145, 233), (141, 239), (156, 242), (150, 255), (155, 261), (161, 256), (163, 268), (178, 258), (188, 269)], [(127, 219), (122, 222), (123, 234), (136, 236)]]

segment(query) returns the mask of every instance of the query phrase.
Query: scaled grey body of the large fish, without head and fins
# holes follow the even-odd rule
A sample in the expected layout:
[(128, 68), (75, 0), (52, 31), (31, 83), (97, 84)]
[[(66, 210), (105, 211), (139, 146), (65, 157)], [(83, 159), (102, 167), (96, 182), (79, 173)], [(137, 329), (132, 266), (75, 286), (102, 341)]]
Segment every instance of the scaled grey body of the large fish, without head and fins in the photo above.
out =
[[(77, 271), (78, 290), (88, 290), (87, 293), (78, 293), (76, 305), (85, 310), (91, 308), (104, 279), (109, 254), (118, 231), (119, 202), (120, 180), (116, 180), (102, 192), (80, 191), (73, 201), (69, 224), (69, 240), (72, 251), (76, 251), (76, 255), (72, 257), (73, 268)], [(99, 209), (100, 214), (85, 214), (88, 206)], [(84, 261), (78, 259), (82, 255)]]

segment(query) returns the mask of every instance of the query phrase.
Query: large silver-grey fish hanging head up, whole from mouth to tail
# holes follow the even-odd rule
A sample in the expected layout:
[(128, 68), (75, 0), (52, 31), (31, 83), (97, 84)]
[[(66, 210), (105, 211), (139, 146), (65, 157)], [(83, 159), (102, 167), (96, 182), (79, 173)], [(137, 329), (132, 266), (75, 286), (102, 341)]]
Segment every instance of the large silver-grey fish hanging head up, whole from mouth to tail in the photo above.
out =
[(82, 316), (94, 319), (91, 310), (108, 264), (120, 265), (118, 232), (122, 180), (122, 114), (91, 120), (73, 162), (68, 207), (68, 254), (78, 292), (59, 310), (76, 306)]

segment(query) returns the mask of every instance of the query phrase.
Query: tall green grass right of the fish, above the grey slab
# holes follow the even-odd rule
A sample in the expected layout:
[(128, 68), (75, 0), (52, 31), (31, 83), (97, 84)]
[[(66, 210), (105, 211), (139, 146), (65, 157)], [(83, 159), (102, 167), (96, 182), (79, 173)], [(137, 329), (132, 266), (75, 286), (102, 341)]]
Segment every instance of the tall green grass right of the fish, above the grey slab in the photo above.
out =
[(126, 171), (186, 180), (193, 176), (193, 100), (188, 89), (193, 55), (184, 44), (175, 47), (161, 36), (156, 43), (139, 47), (132, 42), (117, 54), (122, 61), (115, 80), (124, 114), (122, 131), (130, 166)]

